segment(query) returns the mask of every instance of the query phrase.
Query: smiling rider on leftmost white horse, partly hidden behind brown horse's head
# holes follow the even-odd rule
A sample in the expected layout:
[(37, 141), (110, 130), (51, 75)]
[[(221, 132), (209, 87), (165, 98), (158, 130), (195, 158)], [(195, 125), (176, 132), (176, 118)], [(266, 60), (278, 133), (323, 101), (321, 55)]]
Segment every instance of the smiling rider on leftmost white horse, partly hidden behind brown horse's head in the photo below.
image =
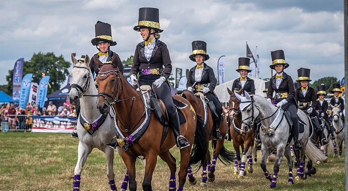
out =
[[(90, 42), (92, 43), (93, 46), (98, 49), (98, 53), (94, 54), (90, 58), (89, 62), (89, 68), (90, 71), (98, 75), (99, 73), (99, 68), (97, 67), (98, 65), (94, 63), (94, 57), (98, 58), (98, 62), (100, 61), (102, 64), (106, 63), (107, 59), (111, 59), (114, 56), (114, 52), (110, 50), (110, 46), (115, 46), (117, 43), (112, 40), (112, 35), (111, 35), (111, 25), (105, 22), (97, 21), (96, 24), (94, 25), (95, 28), (95, 38), (93, 38)], [(118, 54), (116, 54), (118, 57), (118, 70), (123, 74), (123, 64), (121, 62), (120, 57)], [(99, 66), (101, 66), (100, 64)]]

